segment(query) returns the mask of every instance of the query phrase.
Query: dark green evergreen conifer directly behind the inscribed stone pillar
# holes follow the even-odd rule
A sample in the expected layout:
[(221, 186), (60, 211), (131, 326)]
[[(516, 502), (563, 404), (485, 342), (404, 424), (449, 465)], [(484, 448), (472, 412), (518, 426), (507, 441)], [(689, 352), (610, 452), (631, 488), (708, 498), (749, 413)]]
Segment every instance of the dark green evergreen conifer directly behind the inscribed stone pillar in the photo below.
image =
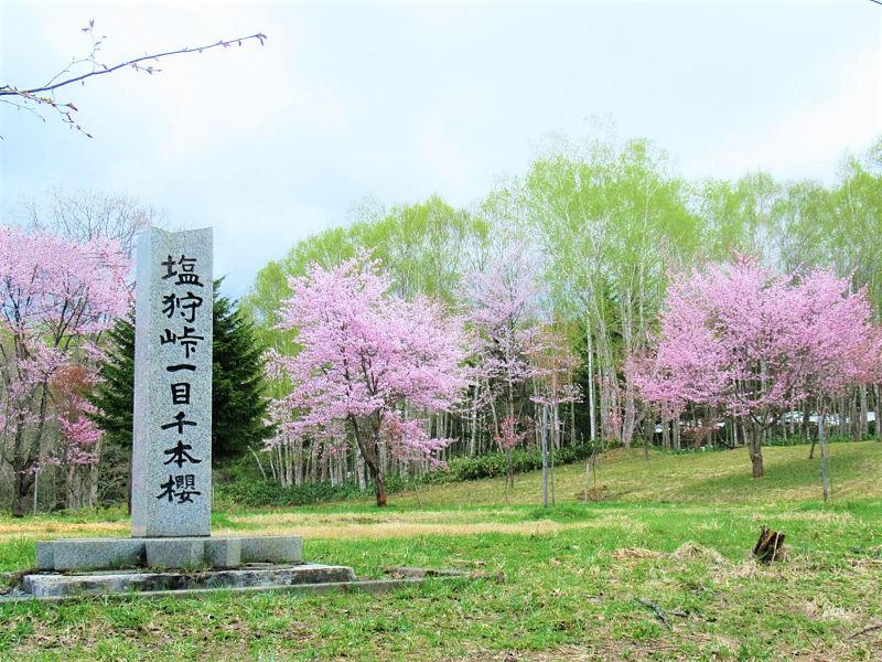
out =
[[(229, 460), (258, 446), (271, 435), (265, 423), (263, 348), (251, 322), (236, 302), (214, 288), (214, 372), (212, 375), (212, 458)], [(97, 407), (93, 419), (105, 431), (101, 458), (103, 500), (125, 494), (132, 445), (135, 404), (135, 319), (117, 320), (108, 331), (107, 359), (99, 366), (101, 381), (89, 402)]]

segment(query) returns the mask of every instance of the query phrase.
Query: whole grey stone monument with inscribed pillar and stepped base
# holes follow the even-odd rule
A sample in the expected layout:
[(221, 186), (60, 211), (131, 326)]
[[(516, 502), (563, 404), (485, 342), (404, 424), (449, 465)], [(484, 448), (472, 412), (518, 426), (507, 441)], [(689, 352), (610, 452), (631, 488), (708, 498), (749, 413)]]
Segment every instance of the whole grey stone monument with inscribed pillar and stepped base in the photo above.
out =
[[(93, 592), (203, 587), (198, 581), (229, 587), (354, 580), (352, 568), (300, 565), (299, 536), (212, 536), (212, 229), (147, 229), (137, 258), (132, 537), (39, 542), (37, 568), (287, 564), (195, 579), (173, 573), (114, 575), (116, 584), (110, 575), (103, 583), (94, 575), (80, 578), (77, 590), (87, 586)], [(24, 585), (33, 595), (67, 595), (76, 581), (30, 575)]]

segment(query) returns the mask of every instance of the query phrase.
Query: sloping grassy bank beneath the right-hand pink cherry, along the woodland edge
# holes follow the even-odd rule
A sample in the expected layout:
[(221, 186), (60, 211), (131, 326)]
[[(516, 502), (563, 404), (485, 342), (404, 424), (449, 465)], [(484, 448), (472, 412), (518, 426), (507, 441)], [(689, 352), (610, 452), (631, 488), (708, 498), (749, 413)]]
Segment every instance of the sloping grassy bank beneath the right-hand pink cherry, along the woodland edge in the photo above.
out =
[[(604, 501), (624, 502), (700, 502), (768, 503), (820, 500), (820, 460), (808, 459), (808, 446), (763, 449), (766, 474), (751, 478), (750, 460), (744, 448), (735, 450), (664, 453), (643, 449), (616, 449), (598, 460), (596, 494)], [(828, 467), (832, 498), (872, 499), (882, 496), (882, 444), (860, 441), (830, 444)], [(585, 465), (574, 463), (555, 470), (555, 495), (558, 503), (581, 501), (585, 488)], [(515, 477), (507, 495), (512, 504), (541, 503), (541, 472)], [(420, 488), (424, 508), (448, 505), (488, 505), (505, 503), (505, 481), (469, 481)], [(395, 494), (392, 504), (418, 505), (415, 492)]]

